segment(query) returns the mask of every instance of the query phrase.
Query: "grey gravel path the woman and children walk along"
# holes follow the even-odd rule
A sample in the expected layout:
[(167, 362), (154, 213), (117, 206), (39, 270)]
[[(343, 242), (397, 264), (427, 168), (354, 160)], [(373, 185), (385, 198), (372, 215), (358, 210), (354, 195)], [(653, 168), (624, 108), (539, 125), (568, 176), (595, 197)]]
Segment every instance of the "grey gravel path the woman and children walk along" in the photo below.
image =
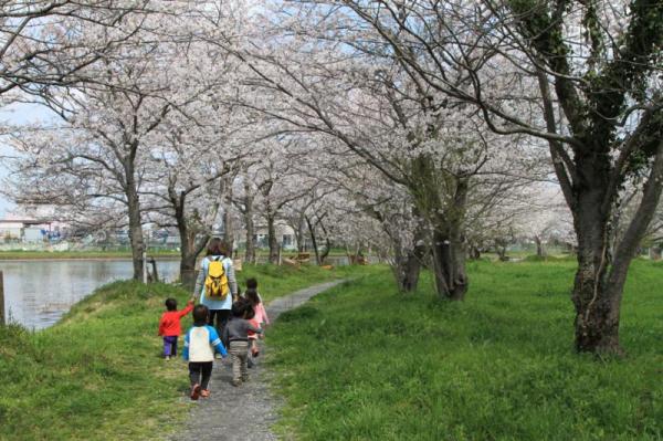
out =
[[(329, 290), (344, 281), (334, 281), (297, 291), (276, 298), (267, 305), (270, 319), (274, 322), (285, 311), (295, 308), (316, 294)], [(269, 334), (267, 334), (269, 340)], [(269, 346), (267, 346), (269, 356)], [(249, 369), (250, 379), (240, 387), (230, 385), (232, 379), (230, 357), (223, 363), (217, 360), (210, 381), (210, 398), (190, 401), (191, 414), (187, 427), (172, 440), (177, 441), (269, 441), (276, 440), (271, 426), (276, 421), (277, 402), (270, 395), (266, 369), (262, 367), (265, 346), (261, 342), (257, 364)]]

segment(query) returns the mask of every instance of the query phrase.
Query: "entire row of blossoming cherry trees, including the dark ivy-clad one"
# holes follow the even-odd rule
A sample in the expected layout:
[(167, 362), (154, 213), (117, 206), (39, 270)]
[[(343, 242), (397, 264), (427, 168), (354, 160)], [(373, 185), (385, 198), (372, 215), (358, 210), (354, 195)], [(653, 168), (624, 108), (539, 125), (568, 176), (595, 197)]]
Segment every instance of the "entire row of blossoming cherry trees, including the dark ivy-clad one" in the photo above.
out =
[[(98, 4), (97, 4), (98, 3)], [(370, 244), (403, 292), (462, 300), (505, 238), (577, 244), (576, 346), (619, 351), (631, 260), (663, 186), (663, 6), (652, 0), (8, 2), (7, 186), (88, 228), (177, 228), (181, 273), (222, 218)], [(20, 93), (19, 93), (20, 92)], [(654, 223), (655, 225), (656, 223)]]

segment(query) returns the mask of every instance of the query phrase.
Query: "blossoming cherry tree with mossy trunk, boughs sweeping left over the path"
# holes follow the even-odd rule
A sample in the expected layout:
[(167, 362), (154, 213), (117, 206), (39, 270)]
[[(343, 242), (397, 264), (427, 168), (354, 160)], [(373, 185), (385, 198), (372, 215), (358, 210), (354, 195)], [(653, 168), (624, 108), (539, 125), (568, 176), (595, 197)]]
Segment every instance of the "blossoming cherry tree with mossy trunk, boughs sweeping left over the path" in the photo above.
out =
[[(403, 186), (415, 206), (412, 216), (430, 230), (438, 293), (462, 300), (467, 291), (470, 188), (497, 167), (492, 151), (501, 151), (502, 164), (509, 147), (520, 145), (485, 135), (474, 107), (413, 81), (402, 62), (362, 43), (362, 30), (352, 30), (356, 18), (332, 18), (304, 7), (288, 9), (275, 21), (270, 23), (275, 29), (272, 40), (261, 35), (250, 51), (238, 54), (253, 72), (251, 83), (271, 97), (246, 105), (281, 118), (293, 130), (337, 138)], [(304, 38), (283, 36), (291, 34)], [(460, 72), (454, 74), (457, 81), (465, 81)]]

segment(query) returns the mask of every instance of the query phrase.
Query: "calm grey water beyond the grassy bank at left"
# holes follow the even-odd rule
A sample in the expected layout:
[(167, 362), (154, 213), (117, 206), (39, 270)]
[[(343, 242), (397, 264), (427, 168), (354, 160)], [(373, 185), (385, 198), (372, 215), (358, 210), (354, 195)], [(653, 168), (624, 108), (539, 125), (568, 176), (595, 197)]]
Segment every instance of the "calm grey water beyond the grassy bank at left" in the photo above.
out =
[[(159, 279), (173, 281), (179, 261), (157, 261)], [(113, 281), (130, 279), (130, 260), (0, 261), (7, 317), (28, 328), (53, 325), (73, 304)]]

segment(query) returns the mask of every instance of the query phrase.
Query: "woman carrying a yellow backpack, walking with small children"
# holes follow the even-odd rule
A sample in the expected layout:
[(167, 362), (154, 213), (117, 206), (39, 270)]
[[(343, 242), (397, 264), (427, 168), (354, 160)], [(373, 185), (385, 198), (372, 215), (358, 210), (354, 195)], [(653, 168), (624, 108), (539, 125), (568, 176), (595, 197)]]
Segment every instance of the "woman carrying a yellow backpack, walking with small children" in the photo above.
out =
[(215, 318), (219, 335), (223, 334), (232, 302), (238, 296), (238, 282), (229, 254), (225, 242), (219, 238), (210, 240), (193, 288), (193, 295), (200, 294), (200, 303), (210, 309), (210, 326), (214, 326)]

